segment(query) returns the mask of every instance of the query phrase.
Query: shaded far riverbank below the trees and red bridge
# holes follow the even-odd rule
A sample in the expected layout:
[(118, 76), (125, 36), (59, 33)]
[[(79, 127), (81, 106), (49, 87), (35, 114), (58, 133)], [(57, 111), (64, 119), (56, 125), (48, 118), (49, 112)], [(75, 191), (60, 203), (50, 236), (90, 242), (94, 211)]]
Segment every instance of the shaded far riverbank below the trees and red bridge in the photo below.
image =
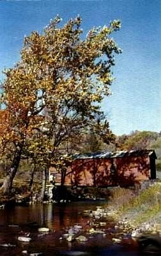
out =
[(18, 183), (14, 186), (10, 195), (0, 194), (1, 205), (26, 205), (26, 204), (55, 204), (79, 202), (84, 200), (106, 200), (111, 196), (109, 188), (88, 187), (88, 186), (54, 186), (47, 185), (44, 200), (41, 200), (41, 189), (35, 186), (32, 191), (27, 190), (26, 184)]

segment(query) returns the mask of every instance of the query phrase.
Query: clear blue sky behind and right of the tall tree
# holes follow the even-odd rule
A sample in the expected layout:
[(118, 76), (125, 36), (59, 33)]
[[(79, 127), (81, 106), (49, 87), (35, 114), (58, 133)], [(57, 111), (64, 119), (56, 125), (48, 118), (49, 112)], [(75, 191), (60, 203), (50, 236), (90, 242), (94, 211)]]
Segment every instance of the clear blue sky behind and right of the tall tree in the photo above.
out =
[(93, 26), (121, 20), (112, 36), (123, 53), (116, 56), (112, 95), (102, 108), (115, 134), (161, 131), (161, 1), (1, 0), (0, 71), (19, 61), (24, 36), (42, 31), (57, 13), (62, 25), (81, 15), (84, 36)]

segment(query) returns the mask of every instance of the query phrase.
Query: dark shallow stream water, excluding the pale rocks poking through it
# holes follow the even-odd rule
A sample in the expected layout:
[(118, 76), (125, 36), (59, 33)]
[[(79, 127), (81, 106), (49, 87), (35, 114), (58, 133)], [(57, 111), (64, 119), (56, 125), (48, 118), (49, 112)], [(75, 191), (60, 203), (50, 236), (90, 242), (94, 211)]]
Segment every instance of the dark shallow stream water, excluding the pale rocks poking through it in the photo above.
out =
[[(96, 206), (105, 206), (105, 201), (74, 202), (67, 205), (35, 204), (27, 207), (16, 206), (0, 210), (0, 255), (72, 255), (72, 256), (141, 256), (137, 248), (125, 239), (123, 244), (113, 244), (109, 230), (113, 223), (108, 223), (102, 229), (107, 236), (88, 234), (89, 223), (99, 223), (89, 216), (84, 216), (84, 210), (94, 210)], [(107, 221), (107, 220), (102, 220)], [(63, 234), (75, 224), (82, 226), (78, 236), (88, 237), (88, 241), (77, 240), (68, 242)], [(38, 232), (38, 227), (49, 227), (49, 233)], [(29, 243), (17, 240), (19, 236), (29, 234)], [(60, 237), (62, 237), (60, 239)], [(34, 256), (34, 254), (33, 254)], [(36, 256), (36, 254), (35, 254)]]

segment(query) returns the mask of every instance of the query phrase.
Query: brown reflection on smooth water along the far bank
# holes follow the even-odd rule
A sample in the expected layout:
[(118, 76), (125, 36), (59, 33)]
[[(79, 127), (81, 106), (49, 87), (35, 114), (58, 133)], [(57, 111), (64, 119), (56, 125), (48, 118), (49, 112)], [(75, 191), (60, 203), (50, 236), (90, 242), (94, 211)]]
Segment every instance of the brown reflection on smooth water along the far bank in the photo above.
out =
[(80, 212), (84, 209), (95, 209), (96, 205), (104, 202), (77, 202), (69, 205), (34, 204), (27, 207), (12, 207), (0, 210), (1, 225), (27, 225), (36, 222), (38, 225), (50, 225), (52, 230), (59, 230), (74, 223), (84, 224)]

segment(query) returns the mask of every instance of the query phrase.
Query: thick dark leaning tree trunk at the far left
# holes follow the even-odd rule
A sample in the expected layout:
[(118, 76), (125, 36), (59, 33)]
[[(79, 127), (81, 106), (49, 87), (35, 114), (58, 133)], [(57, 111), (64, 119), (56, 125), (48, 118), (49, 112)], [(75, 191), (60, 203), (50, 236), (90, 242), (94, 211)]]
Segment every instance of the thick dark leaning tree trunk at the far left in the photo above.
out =
[(6, 178), (4, 179), (3, 185), (1, 186), (1, 192), (3, 193), (3, 195), (10, 194), (12, 184), (13, 184), (13, 179), (19, 168), (21, 154), (22, 154), (22, 147), (17, 147), (15, 151), (15, 156), (13, 158), (13, 162), (11, 164), (11, 168), (8, 171), (8, 174), (6, 175)]

